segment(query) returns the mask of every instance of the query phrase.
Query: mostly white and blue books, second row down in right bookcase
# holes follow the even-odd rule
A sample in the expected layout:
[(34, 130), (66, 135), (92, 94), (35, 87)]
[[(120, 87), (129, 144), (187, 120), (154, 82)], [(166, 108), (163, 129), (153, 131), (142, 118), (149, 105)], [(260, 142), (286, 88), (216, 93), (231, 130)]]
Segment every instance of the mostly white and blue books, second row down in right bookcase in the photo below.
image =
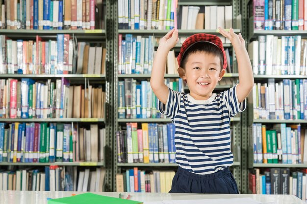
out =
[(307, 75), (307, 39), (266, 35), (248, 45), (255, 75)]

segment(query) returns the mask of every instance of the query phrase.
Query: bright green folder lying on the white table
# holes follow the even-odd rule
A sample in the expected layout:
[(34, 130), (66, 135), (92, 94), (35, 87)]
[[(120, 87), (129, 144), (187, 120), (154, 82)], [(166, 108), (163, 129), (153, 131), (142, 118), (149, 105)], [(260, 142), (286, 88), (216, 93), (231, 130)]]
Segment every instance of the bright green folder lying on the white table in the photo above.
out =
[(50, 199), (48, 204), (143, 204), (143, 202), (83, 193), (76, 196)]

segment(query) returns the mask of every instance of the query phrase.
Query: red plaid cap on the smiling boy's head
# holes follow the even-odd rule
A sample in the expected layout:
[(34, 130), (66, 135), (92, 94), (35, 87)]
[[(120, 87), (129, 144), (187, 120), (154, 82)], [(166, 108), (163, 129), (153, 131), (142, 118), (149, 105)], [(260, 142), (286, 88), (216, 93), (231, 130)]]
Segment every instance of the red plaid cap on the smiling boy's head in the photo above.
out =
[(226, 67), (227, 67), (226, 54), (225, 54), (225, 51), (224, 51), (224, 48), (223, 48), (223, 43), (222, 43), (221, 39), (216, 35), (210, 35), (210, 34), (205, 34), (205, 33), (194, 34), (194, 35), (188, 37), (184, 41), (184, 43), (181, 46), (180, 53), (177, 56), (177, 62), (178, 62), (179, 67), (180, 67), (182, 57), (185, 54), (185, 52), (191, 46), (193, 46), (195, 43), (198, 43), (198, 42), (208, 42), (208, 43), (212, 43), (213, 45), (216, 45), (217, 47), (219, 47), (219, 49), (221, 49), (221, 51), (223, 53), (223, 57), (224, 57), (223, 69), (226, 69)]

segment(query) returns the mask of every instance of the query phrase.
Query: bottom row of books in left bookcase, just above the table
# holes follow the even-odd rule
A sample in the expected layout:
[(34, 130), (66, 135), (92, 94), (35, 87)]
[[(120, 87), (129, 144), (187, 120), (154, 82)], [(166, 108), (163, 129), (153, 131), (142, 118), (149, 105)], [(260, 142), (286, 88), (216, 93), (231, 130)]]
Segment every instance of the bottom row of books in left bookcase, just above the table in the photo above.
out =
[(45, 166), (44, 169), (0, 171), (0, 190), (96, 191), (103, 190), (104, 168), (80, 169), (72, 166)]

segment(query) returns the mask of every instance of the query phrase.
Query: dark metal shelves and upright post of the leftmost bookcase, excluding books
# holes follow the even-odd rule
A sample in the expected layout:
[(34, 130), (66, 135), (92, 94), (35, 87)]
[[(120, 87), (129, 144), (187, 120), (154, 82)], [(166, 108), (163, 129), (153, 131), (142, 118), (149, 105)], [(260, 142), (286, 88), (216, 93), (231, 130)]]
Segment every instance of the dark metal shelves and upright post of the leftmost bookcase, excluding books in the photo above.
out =
[[(17, 2), (17, 1), (16, 1)], [(93, 1), (95, 2), (95, 1)], [(106, 102), (102, 106), (104, 108), (104, 116), (99, 118), (0, 118), (0, 123), (41, 123), (47, 122), (49, 123), (74, 123), (79, 124), (82, 127), (90, 127), (90, 125), (98, 125), (99, 127), (105, 128), (105, 148), (104, 148), (104, 158), (99, 162), (46, 162), (46, 163), (36, 163), (36, 162), (0, 162), (1, 169), (5, 166), (9, 166), (10, 169), (18, 169), (18, 168), (28, 168), (29, 166), (34, 168), (42, 168), (44, 166), (70, 166), (77, 167), (77, 170), (81, 170), (83, 168), (104, 168), (105, 169), (105, 178), (104, 178), (104, 191), (112, 190), (112, 182), (113, 182), (113, 171), (112, 171), (112, 154), (110, 150), (113, 145), (113, 123), (112, 123), (112, 99), (113, 97), (113, 86), (112, 86), (112, 70), (110, 59), (112, 59), (112, 48), (113, 42), (110, 37), (107, 37), (107, 34), (111, 34), (113, 32), (113, 27), (110, 24), (110, 19), (113, 18), (112, 13), (112, 5), (110, 0), (103, 1), (96, 0), (98, 6), (102, 6), (104, 11), (100, 10), (99, 12), (103, 12), (98, 18), (99, 21), (103, 19), (102, 27), (103, 29), (92, 29), (92, 30), (25, 30), (25, 29), (0, 29), (0, 34), (5, 35), (12, 40), (33, 40), (35, 41), (36, 36), (40, 36), (42, 40), (56, 40), (57, 34), (68, 34), (70, 37), (76, 38), (77, 42), (87, 42), (90, 44), (102, 45), (103, 48), (106, 48), (106, 61), (105, 61), (105, 74), (0, 74), (0, 79), (18, 79), (20, 81), (23, 78), (34, 79), (35, 81), (45, 82), (48, 79), (51, 81), (56, 81), (57, 79), (65, 78), (68, 79), (71, 85), (83, 85), (89, 82), (90, 85), (100, 86), (106, 93)], [(101, 13), (100, 13), (101, 14)], [(101, 20), (100, 20), (101, 19)], [(97, 20), (97, 19), (96, 19)], [(64, 19), (63, 19), (64, 23)], [(71, 104), (72, 105), (72, 104)]]

